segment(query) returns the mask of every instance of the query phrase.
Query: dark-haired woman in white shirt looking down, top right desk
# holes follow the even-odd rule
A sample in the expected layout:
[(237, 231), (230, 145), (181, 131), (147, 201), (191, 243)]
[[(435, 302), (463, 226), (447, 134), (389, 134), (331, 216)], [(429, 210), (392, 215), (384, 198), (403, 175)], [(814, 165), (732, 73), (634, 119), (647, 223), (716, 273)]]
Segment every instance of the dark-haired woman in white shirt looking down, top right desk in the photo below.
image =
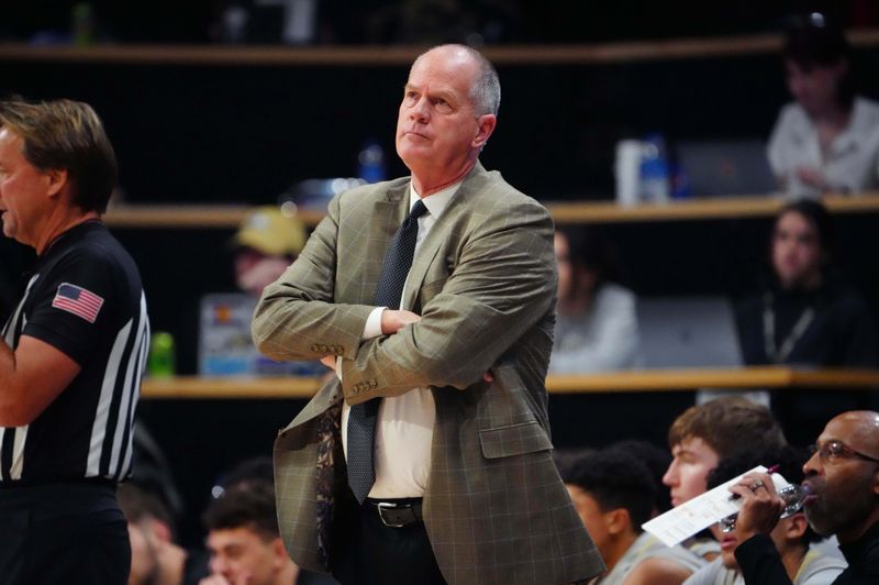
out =
[(782, 56), (793, 103), (769, 139), (769, 164), (792, 196), (879, 187), (879, 103), (855, 93), (842, 30), (812, 13), (790, 27)]

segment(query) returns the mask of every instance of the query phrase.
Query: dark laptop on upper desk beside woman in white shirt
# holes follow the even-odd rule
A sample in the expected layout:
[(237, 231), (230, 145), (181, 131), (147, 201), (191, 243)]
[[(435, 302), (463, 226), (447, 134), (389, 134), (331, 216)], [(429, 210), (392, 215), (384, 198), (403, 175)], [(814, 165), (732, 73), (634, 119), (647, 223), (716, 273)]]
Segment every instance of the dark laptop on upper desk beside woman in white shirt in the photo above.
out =
[(679, 142), (678, 163), (696, 197), (765, 195), (778, 181), (759, 140)]

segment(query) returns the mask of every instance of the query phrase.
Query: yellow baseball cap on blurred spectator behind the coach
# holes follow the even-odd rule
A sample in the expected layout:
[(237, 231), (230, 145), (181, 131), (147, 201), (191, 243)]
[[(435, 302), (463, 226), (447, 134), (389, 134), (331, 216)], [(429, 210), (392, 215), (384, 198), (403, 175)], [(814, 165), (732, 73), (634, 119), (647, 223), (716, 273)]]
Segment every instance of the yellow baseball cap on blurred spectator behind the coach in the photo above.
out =
[(305, 225), (277, 207), (257, 207), (245, 216), (232, 238), (236, 246), (253, 247), (269, 256), (296, 256), (305, 245)]

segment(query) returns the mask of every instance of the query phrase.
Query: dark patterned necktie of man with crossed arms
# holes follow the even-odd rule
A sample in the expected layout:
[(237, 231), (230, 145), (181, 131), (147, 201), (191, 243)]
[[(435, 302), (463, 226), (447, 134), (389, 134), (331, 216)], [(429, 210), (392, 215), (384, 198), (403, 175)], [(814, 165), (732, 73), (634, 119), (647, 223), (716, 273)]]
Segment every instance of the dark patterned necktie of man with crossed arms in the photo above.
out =
[[(409, 268), (412, 267), (412, 256), (415, 254), (415, 242), (419, 238), (419, 217), (427, 208), (421, 200), (415, 201), (409, 217), (393, 234), (388, 253), (385, 254), (385, 264), (381, 266), (381, 276), (376, 286), (376, 307), (388, 307), (397, 310), (400, 308), (400, 298), (403, 295)], [(376, 444), (376, 418), (381, 398), (372, 398), (366, 402), (351, 407), (348, 415), (348, 485), (357, 501), (363, 504), (372, 484), (376, 483), (376, 467), (374, 462)]]

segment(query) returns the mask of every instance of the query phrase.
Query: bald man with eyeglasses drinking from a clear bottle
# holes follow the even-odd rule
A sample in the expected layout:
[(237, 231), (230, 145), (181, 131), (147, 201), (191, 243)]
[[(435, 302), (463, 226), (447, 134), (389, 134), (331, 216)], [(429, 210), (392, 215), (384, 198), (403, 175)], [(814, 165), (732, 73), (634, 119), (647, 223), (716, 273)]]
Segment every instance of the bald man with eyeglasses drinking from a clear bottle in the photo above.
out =
[[(803, 465), (811, 495), (805, 516), (819, 534), (836, 534), (848, 569), (834, 585), (879, 583), (879, 413), (844, 412), (832, 419)], [(783, 508), (768, 475), (748, 474), (730, 488), (742, 498), (735, 551), (745, 583), (787, 584), (768, 534)]]

